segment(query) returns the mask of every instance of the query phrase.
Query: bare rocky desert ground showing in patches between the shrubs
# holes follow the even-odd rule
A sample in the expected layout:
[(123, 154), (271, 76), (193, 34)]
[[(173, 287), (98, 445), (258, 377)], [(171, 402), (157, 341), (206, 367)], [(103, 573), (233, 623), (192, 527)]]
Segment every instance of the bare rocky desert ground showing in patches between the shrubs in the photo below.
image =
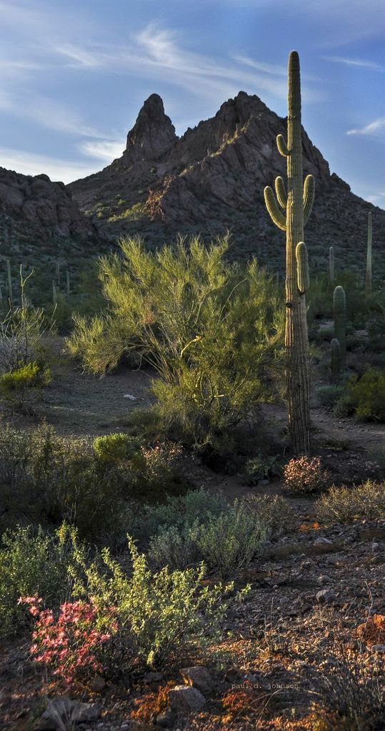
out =
[[(45, 419), (59, 433), (119, 431), (132, 408), (149, 403), (149, 372), (125, 370), (94, 379), (60, 352), (43, 404)], [(280, 406), (269, 407), (266, 417), (274, 429), (285, 427)], [(337, 419), (316, 401), (312, 422), (316, 451), (337, 482), (378, 476), (373, 455), (384, 444), (384, 425)], [(242, 474), (218, 474), (190, 457), (184, 466), (193, 485), (222, 491), (229, 500), (247, 493), (282, 493), (279, 480), (250, 488)], [(63, 689), (31, 664), (25, 640), (2, 643), (1, 729), (63, 730), (72, 728), (71, 722), (83, 731), (334, 730), (333, 724), (317, 727), (313, 704), (324, 704), (336, 664), (342, 689), (337, 681), (333, 684), (341, 697), (356, 682), (349, 667), (360, 667), (361, 679), (384, 673), (385, 520), (327, 526), (315, 499), (287, 499), (292, 512), (283, 533), (236, 577), (236, 588), (250, 583), (250, 594), (231, 606), (219, 644), (204, 656), (181, 658), (161, 674), (132, 675), (119, 686), (96, 677), (60, 700)], [(341, 653), (354, 654), (349, 648), (357, 627), (358, 659), (351, 655), (341, 661)], [(196, 665), (206, 672), (186, 670)], [(383, 727), (385, 721), (378, 731)]]

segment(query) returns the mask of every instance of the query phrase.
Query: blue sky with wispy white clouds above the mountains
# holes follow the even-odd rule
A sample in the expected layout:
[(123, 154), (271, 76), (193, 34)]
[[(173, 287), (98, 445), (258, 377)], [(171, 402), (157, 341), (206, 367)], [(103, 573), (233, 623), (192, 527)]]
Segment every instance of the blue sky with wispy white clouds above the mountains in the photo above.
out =
[(385, 208), (384, 0), (0, 0), (0, 165), (70, 182), (122, 154), (143, 100), (177, 134), (241, 89), (303, 122), (331, 170)]

